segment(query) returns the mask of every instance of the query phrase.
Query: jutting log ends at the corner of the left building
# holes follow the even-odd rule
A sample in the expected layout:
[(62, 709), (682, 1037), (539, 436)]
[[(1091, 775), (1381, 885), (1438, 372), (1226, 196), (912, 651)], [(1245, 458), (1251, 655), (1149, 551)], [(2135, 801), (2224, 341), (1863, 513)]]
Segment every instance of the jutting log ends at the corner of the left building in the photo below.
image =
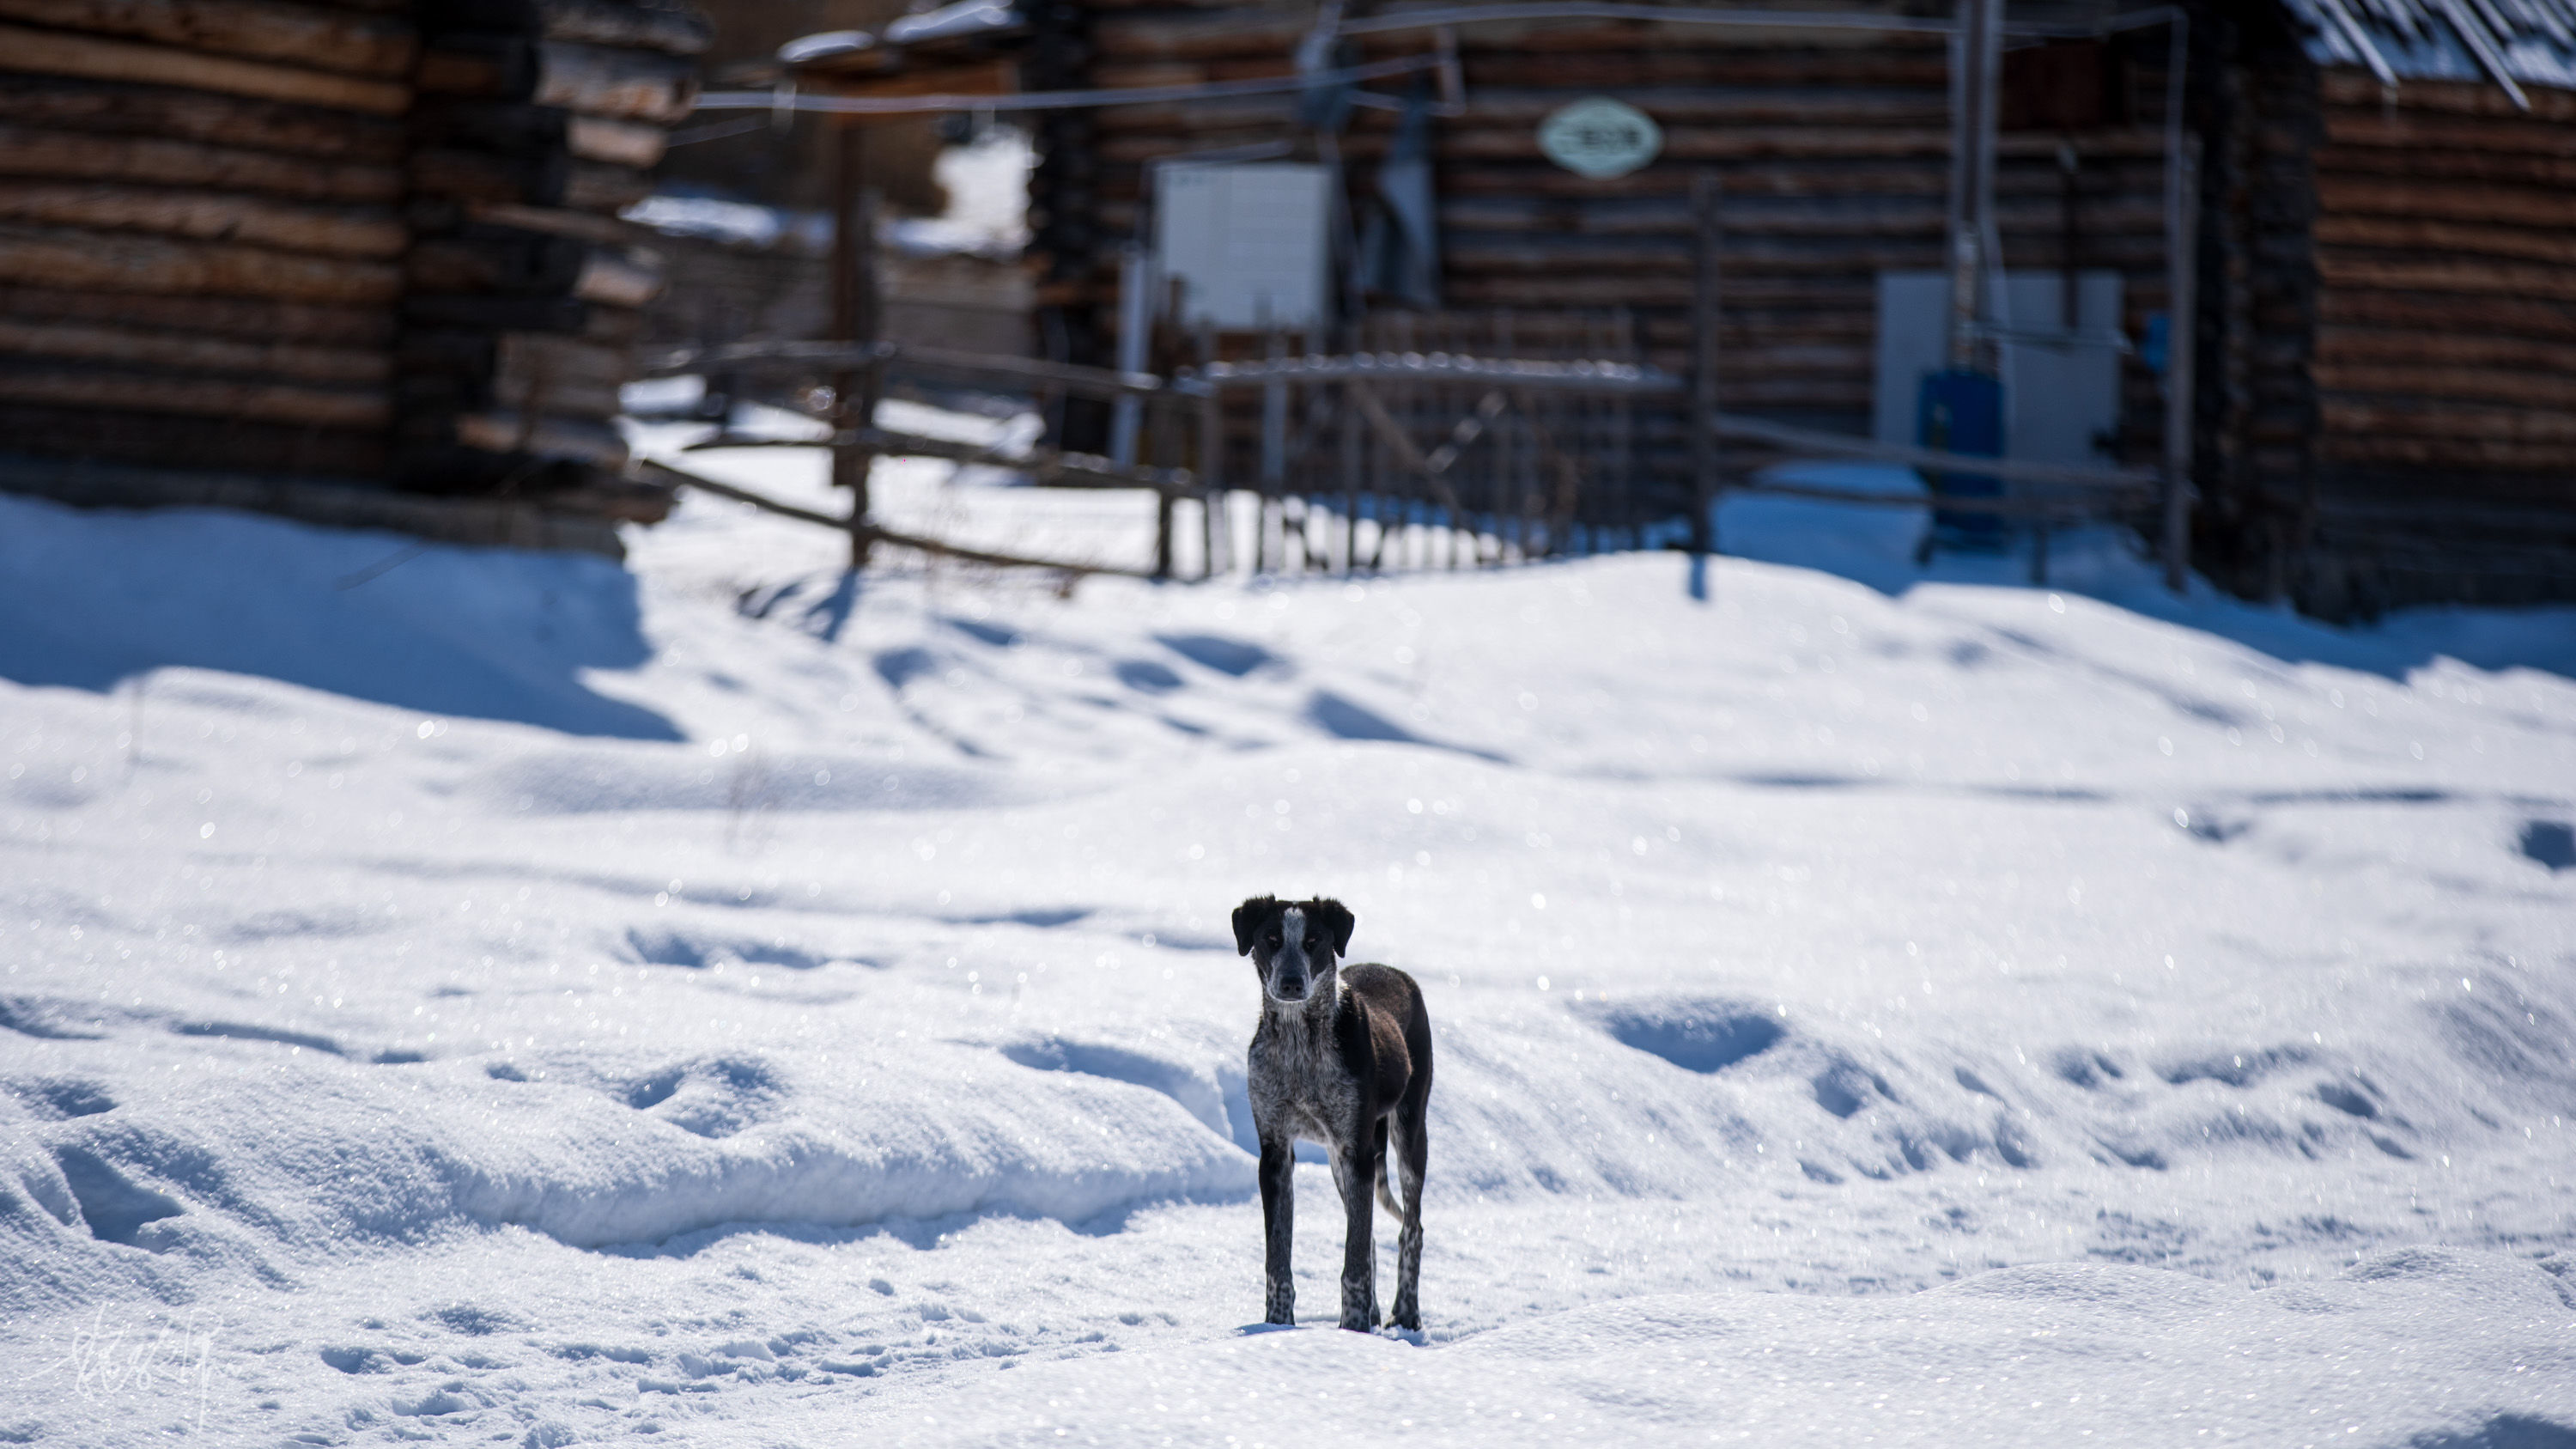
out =
[(618, 211), (652, 191), (708, 26), (629, 0), (422, 0), (420, 21), (397, 472), (487, 492), (616, 469), (618, 384), (662, 286)]

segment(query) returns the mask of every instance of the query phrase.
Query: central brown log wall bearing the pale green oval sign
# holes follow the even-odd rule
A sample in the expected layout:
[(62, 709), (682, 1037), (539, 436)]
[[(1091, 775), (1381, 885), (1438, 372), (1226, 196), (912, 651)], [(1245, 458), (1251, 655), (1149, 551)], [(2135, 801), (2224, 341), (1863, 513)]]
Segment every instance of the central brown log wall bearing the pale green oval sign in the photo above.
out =
[[(1087, 5), (1090, 85), (1172, 85), (1291, 72), (1306, 8)], [(1373, 36), (1365, 59), (1430, 52), (1427, 34)], [(1654, 23), (1466, 26), (1466, 113), (1435, 121), (1445, 307), (1510, 309), (1579, 327), (1636, 317), (1646, 361), (1692, 361), (1698, 173), (1723, 183), (1718, 402), (1790, 423), (1868, 433), (1875, 387), (1875, 276), (1942, 266), (1950, 178), (1945, 44), (1932, 36), (1752, 31)], [(2110, 106), (2079, 129), (2002, 137), (1999, 214), (2009, 268), (2053, 271), (2069, 240), (2079, 268), (2125, 278), (2128, 327), (2164, 307), (2161, 31), (2102, 59)], [(1386, 83), (1388, 90), (1401, 83)], [(1548, 162), (1538, 121), (1582, 95), (1615, 95), (1664, 129), (1638, 173), (1587, 180)], [(1350, 193), (1373, 191), (1394, 113), (1355, 111), (1342, 137)], [(1211, 101), (1097, 113), (1082, 144), (1041, 152), (1056, 201), (1054, 291), (1097, 338), (1113, 335), (1115, 248), (1136, 235), (1151, 160), (1298, 139), (1291, 103)], [(2076, 157), (2071, 178), (2061, 147)], [(1301, 152), (1311, 157), (1311, 152)], [(1051, 175), (1061, 178), (1051, 183)], [(1054, 188), (1051, 188), (1054, 186)], [(1079, 224), (1077, 224), (1079, 222)], [(1072, 258), (1066, 253), (1074, 253)], [(1082, 358), (1105, 361), (1105, 358)], [(1677, 407), (1636, 420), (1638, 456), (1685, 498)], [(2123, 462), (2154, 462), (2161, 400), (2128, 366)], [(1741, 454), (1739, 454), (1741, 456)]]

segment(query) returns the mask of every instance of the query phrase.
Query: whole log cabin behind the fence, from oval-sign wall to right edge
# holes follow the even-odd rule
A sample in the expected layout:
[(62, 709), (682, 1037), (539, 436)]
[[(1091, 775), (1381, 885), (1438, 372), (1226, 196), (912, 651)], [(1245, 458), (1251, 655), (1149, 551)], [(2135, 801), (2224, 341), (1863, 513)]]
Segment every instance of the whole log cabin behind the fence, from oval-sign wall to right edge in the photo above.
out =
[[(1136, 98), (1033, 119), (1041, 338), (1056, 361), (1121, 364), (1157, 178), (1309, 162), (1332, 178), (1334, 271), (1301, 343), (1383, 338), (1391, 320), (1479, 343), (1607, 335), (1674, 374), (1708, 364), (1726, 413), (1914, 441), (1955, 260), (1953, 8), (1855, 0), (1739, 23), (1656, 8), (1023, 0), (976, 41), (1007, 36), (1023, 90)], [(2014, 0), (2007, 15), (1986, 327), (2017, 397), (2014, 451), (2184, 456), (2190, 562), (2239, 596), (2329, 619), (2576, 598), (2576, 8)], [(922, 75), (956, 64), (927, 52)], [(855, 95), (927, 85), (899, 57), (866, 62), (817, 77), (840, 64)], [(1301, 70), (1365, 80), (1278, 85)], [(1646, 155), (1558, 155), (1551, 124), (1595, 101), (1643, 113)], [(1419, 273), (1360, 266), (1409, 121), (1427, 124), (1427, 294)], [(1692, 188), (1710, 183), (1721, 281), (1703, 327)], [(2179, 436), (2172, 340), (2190, 379)], [(1218, 345), (1260, 338), (1236, 322)], [(1692, 500), (1690, 415), (1682, 397), (1641, 402), (1625, 443), (1667, 513)], [(1105, 413), (1061, 418), (1077, 449), (1108, 428)], [(1728, 449), (1739, 477), (1759, 462)]]

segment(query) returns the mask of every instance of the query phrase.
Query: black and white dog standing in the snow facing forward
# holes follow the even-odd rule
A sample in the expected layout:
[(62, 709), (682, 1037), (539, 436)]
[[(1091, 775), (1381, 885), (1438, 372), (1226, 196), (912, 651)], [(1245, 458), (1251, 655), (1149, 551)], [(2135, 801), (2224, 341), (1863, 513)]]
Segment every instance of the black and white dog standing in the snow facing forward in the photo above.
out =
[[(1296, 1225), (1296, 1140), (1332, 1152), (1342, 1194), (1342, 1328), (1378, 1325), (1378, 1256), (1370, 1191), (1394, 1212), (1394, 1328), (1422, 1328), (1422, 1165), (1432, 1101), (1432, 1018), (1414, 977), (1378, 964), (1340, 969), (1350, 951), (1340, 900), (1257, 895), (1234, 910), (1234, 949), (1262, 977), (1262, 1024), (1252, 1031), (1252, 1127), (1262, 1137), (1262, 1227), (1267, 1320), (1296, 1323), (1288, 1248)], [(1394, 1137), (1399, 1204), (1386, 1181)]]

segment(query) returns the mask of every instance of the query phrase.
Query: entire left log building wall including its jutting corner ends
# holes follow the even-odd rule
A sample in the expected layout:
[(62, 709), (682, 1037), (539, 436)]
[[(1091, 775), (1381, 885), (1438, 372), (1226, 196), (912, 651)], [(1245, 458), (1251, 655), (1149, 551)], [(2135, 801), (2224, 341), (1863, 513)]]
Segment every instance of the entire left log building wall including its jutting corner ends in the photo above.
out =
[(616, 209), (703, 44), (626, 0), (0, 0), (0, 451), (616, 462), (654, 289)]

